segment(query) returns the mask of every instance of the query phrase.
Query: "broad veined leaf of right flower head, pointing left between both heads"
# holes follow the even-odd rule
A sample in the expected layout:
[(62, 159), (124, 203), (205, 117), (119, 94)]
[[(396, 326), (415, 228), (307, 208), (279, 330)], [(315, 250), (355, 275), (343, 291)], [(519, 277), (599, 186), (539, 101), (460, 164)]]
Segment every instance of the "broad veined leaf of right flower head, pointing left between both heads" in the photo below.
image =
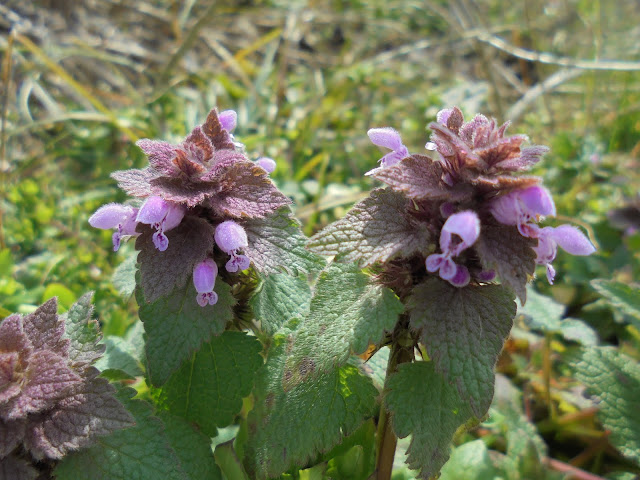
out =
[(309, 240), (320, 255), (340, 255), (340, 261), (360, 267), (393, 257), (427, 253), (429, 231), (408, 214), (411, 203), (401, 193), (378, 189), (356, 204), (346, 216)]

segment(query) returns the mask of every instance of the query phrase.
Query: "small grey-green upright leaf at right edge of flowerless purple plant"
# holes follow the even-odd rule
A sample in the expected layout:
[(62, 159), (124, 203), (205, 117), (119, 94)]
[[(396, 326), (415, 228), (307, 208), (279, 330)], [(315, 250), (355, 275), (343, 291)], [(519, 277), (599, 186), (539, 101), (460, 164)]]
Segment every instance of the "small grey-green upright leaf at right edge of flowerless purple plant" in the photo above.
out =
[(75, 366), (91, 365), (105, 351), (100, 344), (102, 334), (97, 320), (91, 319), (93, 293), (80, 297), (61, 317), (65, 322), (65, 336), (70, 340), (69, 360)]

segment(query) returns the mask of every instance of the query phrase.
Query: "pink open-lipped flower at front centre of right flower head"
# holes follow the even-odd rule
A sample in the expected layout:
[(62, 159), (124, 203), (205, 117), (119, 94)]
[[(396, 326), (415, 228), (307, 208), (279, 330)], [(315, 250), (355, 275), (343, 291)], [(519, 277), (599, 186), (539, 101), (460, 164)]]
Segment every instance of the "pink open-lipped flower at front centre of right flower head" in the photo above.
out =
[[(457, 236), (454, 241), (452, 235)], [(453, 257), (462, 253), (475, 243), (480, 235), (480, 220), (475, 212), (466, 210), (451, 215), (440, 232), (440, 249), (442, 253), (434, 253), (427, 257), (426, 266), (429, 272), (440, 271), (440, 277), (456, 287), (464, 287), (469, 283), (471, 275), (464, 265), (458, 265)]]

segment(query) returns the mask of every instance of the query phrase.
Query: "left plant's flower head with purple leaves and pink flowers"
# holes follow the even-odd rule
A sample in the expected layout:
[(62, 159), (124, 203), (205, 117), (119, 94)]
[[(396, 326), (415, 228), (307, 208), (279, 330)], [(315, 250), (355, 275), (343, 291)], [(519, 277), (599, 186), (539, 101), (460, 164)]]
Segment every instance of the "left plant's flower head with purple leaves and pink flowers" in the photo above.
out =
[[(131, 205), (104, 205), (89, 219), (94, 227), (115, 229), (114, 250), (123, 238), (137, 237), (147, 301), (181, 286), (188, 271), (198, 304), (214, 305), (219, 252), (230, 257), (227, 272), (246, 270), (252, 261), (261, 267), (260, 255), (250, 253), (253, 245), (247, 228), (290, 201), (268, 177), (275, 161), (262, 157), (252, 162), (246, 157), (244, 146), (231, 133), (236, 121), (232, 110), (220, 114), (212, 110), (205, 123), (178, 145), (138, 141), (149, 166), (112, 175), (135, 200)], [(158, 255), (166, 258), (158, 261)], [(144, 264), (154, 267), (144, 268)], [(168, 278), (172, 275), (176, 280)]]

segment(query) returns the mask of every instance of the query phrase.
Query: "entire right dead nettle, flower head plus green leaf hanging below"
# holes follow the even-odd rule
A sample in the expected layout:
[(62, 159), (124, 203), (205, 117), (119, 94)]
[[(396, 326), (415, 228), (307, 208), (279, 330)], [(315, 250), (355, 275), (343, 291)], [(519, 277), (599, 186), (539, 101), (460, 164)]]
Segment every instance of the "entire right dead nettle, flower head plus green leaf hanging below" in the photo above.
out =
[[(573, 255), (595, 250), (573, 226), (539, 225), (555, 215), (553, 199), (540, 178), (521, 173), (548, 148), (506, 135), (508, 125), (484, 115), (465, 122), (457, 107), (441, 110), (429, 125), (425, 154), (409, 153), (392, 128), (369, 130), (371, 141), (389, 151), (367, 175), (387, 187), (309, 242), (315, 253), (367, 268), (405, 306), (377, 347), (391, 347), (385, 408), (398, 436), (413, 433), (407, 461), (424, 478), (446, 461), (455, 429), (477, 423), (489, 408), (494, 366), (516, 313), (513, 294), (525, 302), (536, 265), (553, 283), (558, 246)], [(415, 352), (429, 361), (416, 362)], [(416, 382), (426, 386), (414, 399), (405, 387)], [(429, 394), (436, 390), (447, 408)], [(417, 416), (407, 410), (413, 401), (441, 413)], [(379, 434), (387, 429), (384, 418)], [(383, 448), (380, 471), (385, 462), (393, 462), (393, 452)]]

